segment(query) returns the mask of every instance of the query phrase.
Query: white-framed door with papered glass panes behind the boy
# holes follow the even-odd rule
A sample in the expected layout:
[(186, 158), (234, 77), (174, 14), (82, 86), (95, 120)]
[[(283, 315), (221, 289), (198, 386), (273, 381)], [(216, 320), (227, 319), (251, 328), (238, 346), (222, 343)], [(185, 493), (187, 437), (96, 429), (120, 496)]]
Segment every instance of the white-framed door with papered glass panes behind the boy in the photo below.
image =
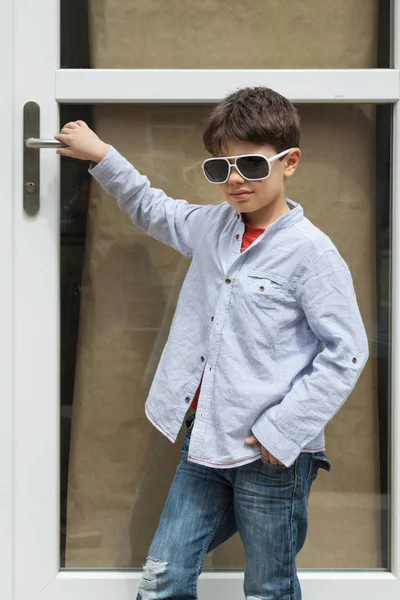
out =
[[(187, 265), (135, 232), (111, 199), (89, 187), (86, 166), (61, 163), (54, 150), (29, 151), (40, 154), (40, 206), (32, 210), (31, 200), (28, 214), (23, 197), (39, 180), (34, 171), (29, 181), (23, 175), (25, 105), (40, 108), (41, 138), (51, 138), (67, 118), (93, 120), (157, 185), (204, 202), (198, 163), (207, 110), (232, 89), (268, 85), (299, 106), (305, 174), (293, 194), (306, 203), (310, 198), (314, 220), (343, 249), (373, 347), (361, 387), (328, 432), (327, 452), (337, 468), (322, 474), (312, 493), (310, 537), (299, 558), (303, 594), (306, 600), (395, 600), (399, 56), (396, 68), (365, 68), (376, 67), (360, 55), (360, 48), (369, 52), (366, 23), (375, 27), (377, 19), (369, 2), (358, 3), (371, 14), (352, 21), (354, 39), (347, 40), (340, 36), (350, 17), (337, 14), (348, 3), (339, 0), (336, 13), (321, 9), (319, 19), (311, 9), (294, 15), (282, 9), (282, 16), (275, 2), (229, 7), (218, 0), (153, 0), (125, 3), (121, 12), (123, 4), (1, 3), (0, 595), (135, 598), (144, 548), (179, 453), (155, 437), (141, 408)], [(280, 63), (271, 59), (270, 70), (257, 52), (270, 23), (265, 10), (277, 30), (271, 55), (281, 44), (286, 56)], [(289, 17), (294, 20), (286, 24)], [(398, 16), (392, 25), (398, 49)], [(310, 27), (319, 43), (307, 40)], [(281, 31), (294, 33), (285, 41)], [(82, 68), (89, 67), (89, 54), (80, 56), (79, 44), (89, 35), (84, 47), (92, 66), (102, 68)], [(240, 47), (242, 35), (247, 42)], [(323, 39), (339, 48), (331, 63)], [(341, 62), (346, 43), (351, 56)], [(303, 64), (311, 68), (299, 69)], [(363, 404), (363, 398), (370, 400)], [(229, 544), (208, 559), (200, 598), (243, 597), (240, 545)]]

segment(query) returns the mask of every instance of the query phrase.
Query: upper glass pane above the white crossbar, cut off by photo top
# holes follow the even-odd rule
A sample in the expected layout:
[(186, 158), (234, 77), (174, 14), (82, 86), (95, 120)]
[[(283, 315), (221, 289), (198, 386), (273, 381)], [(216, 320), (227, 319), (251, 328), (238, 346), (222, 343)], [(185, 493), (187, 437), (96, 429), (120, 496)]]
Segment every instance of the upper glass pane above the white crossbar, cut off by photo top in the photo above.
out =
[[(391, 0), (61, 0), (61, 66), (389, 67)], [(201, 51), (199, 51), (201, 49)]]

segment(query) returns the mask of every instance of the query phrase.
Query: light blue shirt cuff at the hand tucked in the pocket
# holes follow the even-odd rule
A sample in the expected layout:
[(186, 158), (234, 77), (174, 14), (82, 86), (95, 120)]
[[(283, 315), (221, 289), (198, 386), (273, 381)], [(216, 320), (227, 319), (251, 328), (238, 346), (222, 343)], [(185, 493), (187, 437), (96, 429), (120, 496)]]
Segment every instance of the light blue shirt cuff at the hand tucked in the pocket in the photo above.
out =
[(271, 423), (266, 413), (262, 414), (251, 428), (253, 434), (264, 448), (277, 458), (285, 467), (290, 467), (301, 452), (294, 442)]

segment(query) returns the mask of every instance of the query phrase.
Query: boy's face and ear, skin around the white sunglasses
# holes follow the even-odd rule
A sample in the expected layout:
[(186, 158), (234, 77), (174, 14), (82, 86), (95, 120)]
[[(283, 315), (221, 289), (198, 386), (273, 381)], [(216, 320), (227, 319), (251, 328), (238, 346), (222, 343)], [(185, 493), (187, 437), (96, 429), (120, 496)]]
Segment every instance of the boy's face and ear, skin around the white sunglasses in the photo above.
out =
[[(253, 142), (232, 140), (224, 145), (220, 156), (240, 156), (242, 154), (262, 154), (267, 158), (272, 158), (277, 151), (269, 145), (259, 146)], [(219, 184), (223, 199), (241, 213), (263, 212), (263, 209), (272, 208), (272, 205), (278, 207), (279, 204), (286, 208), (285, 178), (293, 175), (299, 163), (300, 154), (300, 150), (296, 148), (283, 159), (273, 161), (270, 176), (261, 181), (244, 179), (233, 167), (228, 181)], [(234, 160), (232, 159), (230, 162), (233, 163)]]

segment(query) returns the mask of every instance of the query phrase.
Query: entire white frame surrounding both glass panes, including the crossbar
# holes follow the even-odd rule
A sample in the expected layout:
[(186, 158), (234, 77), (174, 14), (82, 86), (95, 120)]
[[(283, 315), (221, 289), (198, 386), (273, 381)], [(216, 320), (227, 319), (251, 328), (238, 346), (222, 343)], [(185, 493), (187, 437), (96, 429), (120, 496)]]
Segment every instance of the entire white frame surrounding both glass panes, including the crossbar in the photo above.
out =
[[(58, 102), (215, 102), (242, 85), (268, 85), (296, 102), (392, 103), (391, 572), (302, 571), (304, 599), (400, 597), (400, 23), (395, 69), (59, 69), (56, 0), (2, 0), (0, 53), (0, 597), (133, 600), (139, 572), (59, 568), (59, 166), (41, 155), (41, 211), (22, 210), (22, 109), (38, 102), (42, 137), (58, 129)], [(242, 573), (206, 572), (200, 598), (243, 598)]]

